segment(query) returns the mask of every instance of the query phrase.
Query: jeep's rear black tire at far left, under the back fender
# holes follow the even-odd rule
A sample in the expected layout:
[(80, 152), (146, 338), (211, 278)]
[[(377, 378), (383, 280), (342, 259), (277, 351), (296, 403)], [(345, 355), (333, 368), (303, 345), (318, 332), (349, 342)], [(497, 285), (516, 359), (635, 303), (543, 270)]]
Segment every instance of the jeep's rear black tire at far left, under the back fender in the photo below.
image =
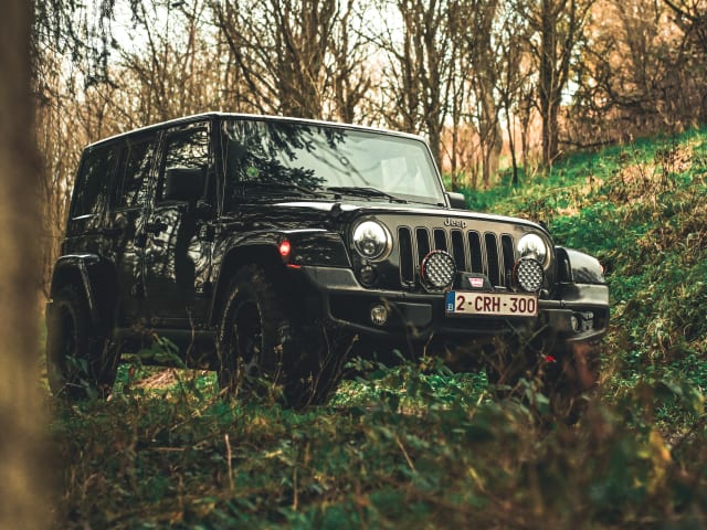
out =
[(117, 365), (118, 353), (106, 333), (92, 329), (84, 296), (73, 285), (61, 287), (46, 321), (46, 372), (52, 393), (67, 400), (107, 398)]

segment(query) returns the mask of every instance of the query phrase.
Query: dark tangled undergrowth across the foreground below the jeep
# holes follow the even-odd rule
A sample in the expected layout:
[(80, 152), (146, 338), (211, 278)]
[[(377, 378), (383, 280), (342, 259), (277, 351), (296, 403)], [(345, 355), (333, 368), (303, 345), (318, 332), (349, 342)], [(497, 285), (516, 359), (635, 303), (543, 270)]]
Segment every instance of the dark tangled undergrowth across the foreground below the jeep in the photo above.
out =
[[(474, 378), (404, 364), (305, 413), (224, 402), (201, 374), (56, 404), (60, 527), (599, 528), (704, 523), (701, 395), (636, 388), (576, 427)], [(439, 380), (452, 383), (440, 392)], [(451, 389), (451, 390), (450, 390)], [(183, 392), (187, 390), (188, 392)], [(661, 404), (694, 414), (671, 438)]]

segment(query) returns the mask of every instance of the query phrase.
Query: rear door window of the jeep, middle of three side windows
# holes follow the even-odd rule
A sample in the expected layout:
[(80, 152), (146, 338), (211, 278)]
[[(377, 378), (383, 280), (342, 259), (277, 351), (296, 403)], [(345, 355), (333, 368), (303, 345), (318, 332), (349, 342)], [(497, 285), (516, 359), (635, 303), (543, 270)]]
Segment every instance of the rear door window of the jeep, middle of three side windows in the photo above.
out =
[(145, 204), (148, 195), (149, 172), (155, 156), (155, 136), (128, 138), (125, 146), (125, 166), (115, 190), (114, 208)]

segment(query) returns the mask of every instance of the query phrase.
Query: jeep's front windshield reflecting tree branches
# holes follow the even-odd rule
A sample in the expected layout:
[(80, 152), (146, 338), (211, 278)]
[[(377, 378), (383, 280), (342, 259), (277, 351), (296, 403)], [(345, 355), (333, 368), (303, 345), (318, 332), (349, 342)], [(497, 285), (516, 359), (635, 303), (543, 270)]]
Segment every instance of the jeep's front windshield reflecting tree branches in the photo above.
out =
[(247, 119), (224, 121), (222, 132), (226, 209), (244, 194), (444, 203), (429, 149), (414, 138)]

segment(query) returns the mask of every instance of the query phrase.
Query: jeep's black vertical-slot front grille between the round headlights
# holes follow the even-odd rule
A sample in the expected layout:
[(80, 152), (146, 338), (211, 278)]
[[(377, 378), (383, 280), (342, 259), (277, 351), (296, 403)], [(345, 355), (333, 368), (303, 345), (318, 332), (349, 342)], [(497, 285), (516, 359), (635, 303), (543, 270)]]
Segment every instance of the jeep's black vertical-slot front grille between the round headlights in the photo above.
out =
[(413, 284), (420, 263), (430, 251), (449, 252), (457, 271), (481, 273), (495, 287), (508, 287), (515, 263), (515, 244), (509, 234), (461, 229), (398, 229), (400, 280)]

